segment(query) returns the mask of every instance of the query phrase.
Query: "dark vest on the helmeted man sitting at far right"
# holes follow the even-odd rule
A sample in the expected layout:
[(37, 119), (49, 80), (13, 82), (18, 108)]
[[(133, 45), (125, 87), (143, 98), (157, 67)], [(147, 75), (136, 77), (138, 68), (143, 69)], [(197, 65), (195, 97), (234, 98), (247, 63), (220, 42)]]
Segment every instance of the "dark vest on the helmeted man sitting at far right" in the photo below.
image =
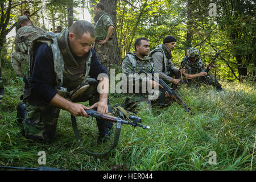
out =
[(195, 75), (200, 73), (203, 70), (204, 63), (199, 57), (195, 63), (191, 63), (189, 61), (189, 56), (185, 56), (184, 59), (181, 61), (181, 67), (185, 67), (188, 70), (189, 75)]

